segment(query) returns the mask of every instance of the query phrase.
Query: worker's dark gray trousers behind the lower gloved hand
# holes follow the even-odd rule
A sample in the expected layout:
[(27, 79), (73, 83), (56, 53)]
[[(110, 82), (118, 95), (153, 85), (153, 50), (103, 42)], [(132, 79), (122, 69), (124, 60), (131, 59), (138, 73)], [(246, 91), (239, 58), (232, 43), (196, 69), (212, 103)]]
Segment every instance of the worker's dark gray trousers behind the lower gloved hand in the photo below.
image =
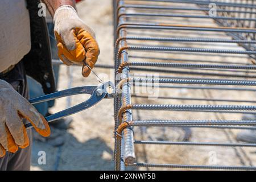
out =
[[(6, 76), (0, 77), (1, 80), (9, 82), (13, 88), (19, 92), (23, 97), (28, 99), (28, 88), (26, 73), (24, 71), (23, 64), (18, 63), (15, 68), (9, 72)], [(27, 131), (28, 138), (30, 138), (30, 146), (24, 149), (20, 149), (12, 154), (6, 152), (3, 158), (0, 158), (0, 170), (1, 171), (28, 171), (30, 170), (31, 163), (31, 144), (32, 133), (31, 130)]]

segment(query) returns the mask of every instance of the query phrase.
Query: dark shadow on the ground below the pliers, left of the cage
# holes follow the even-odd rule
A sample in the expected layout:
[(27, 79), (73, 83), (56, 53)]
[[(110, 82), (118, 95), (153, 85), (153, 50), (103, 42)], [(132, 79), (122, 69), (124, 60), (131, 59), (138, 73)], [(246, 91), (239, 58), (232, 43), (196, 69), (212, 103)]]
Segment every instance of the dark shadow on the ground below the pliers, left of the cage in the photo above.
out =
[[(47, 142), (34, 141), (32, 170), (113, 170), (113, 150), (102, 138), (79, 142), (72, 134), (65, 133), (63, 146), (52, 147)], [(40, 151), (46, 154), (46, 164), (39, 164)], [(41, 160), (42, 161), (42, 160)]]

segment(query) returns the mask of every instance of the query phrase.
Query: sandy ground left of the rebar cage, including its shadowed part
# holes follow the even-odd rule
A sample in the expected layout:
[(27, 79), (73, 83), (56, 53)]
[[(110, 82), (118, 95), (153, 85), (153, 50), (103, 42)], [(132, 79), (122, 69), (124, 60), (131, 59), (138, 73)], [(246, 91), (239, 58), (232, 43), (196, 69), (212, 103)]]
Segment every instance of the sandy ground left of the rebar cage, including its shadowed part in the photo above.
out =
[[(77, 5), (80, 17), (96, 32), (101, 55), (98, 63), (113, 65), (113, 18), (110, 0), (84, 1)], [(109, 80), (109, 69), (95, 69), (99, 75), (105, 73)], [(101, 74), (100, 74), (101, 73)], [(81, 68), (72, 68), (72, 86), (98, 85), (92, 74), (81, 76)], [(102, 75), (101, 75), (102, 76)], [(58, 89), (68, 88), (68, 71), (64, 65), (60, 69)], [(72, 105), (88, 99), (88, 96), (72, 97)], [(56, 101), (52, 112), (65, 109), (65, 99)], [(113, 100), (104, 100), (91, 109), (72, 116), (72, 129), (65, 134), (66, 142), (61, 147), (51, 147), (47, 143), (34, 142), (32, 170), (112, 170), (113, 160)], [(54, 132), (54, 131), (52, 131)], [(38, 152), (46, 152), (46, 165), (38, 164)]]

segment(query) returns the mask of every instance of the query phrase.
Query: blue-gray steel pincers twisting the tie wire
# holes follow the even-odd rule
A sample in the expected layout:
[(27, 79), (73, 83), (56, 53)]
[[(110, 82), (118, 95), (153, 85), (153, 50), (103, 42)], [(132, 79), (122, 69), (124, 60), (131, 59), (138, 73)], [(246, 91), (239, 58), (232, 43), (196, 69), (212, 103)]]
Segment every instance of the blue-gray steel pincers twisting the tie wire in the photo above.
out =
[[(94, 105), (96, 105), (98, 102), (103, 100), (104, 98), (114, 98), (115, 97), (115, 90), (113, 93), (108, 93), (108, 88), (114, 88), (114, 84), (112, 82), (105, 82), (104, 84), (100, 86), (81, 86), (76, 88), (71, 88), (67, 90), (62, 90), (59, 92), (51, 93), (46, 96), (33, 98), (29, 100), (31, 104), (39, 104), (42, 102), (47, 102), (51, 100), (55, 100), (57, 98), (63, 98), (68, 96), (75, 96), (79, 94), (90, 94), (90, 98), (81, 104), (78, 104), (76, 106), (70, 107), (68, 109), (65, 109), (63, 111), (60, 111), (59, 113), (55, 113), (52, 115), (49, 115), (46, 117), (47, 122), (52, 122), (57, 119), (61, 119), (64, 117), (67, 117), (68, 115), (72, 115), (75, 113), (79, 113), (82, 110), (86, 110)], [(25, 125), (26, 129), (32, 128), (31, 123), (28, 123)]]

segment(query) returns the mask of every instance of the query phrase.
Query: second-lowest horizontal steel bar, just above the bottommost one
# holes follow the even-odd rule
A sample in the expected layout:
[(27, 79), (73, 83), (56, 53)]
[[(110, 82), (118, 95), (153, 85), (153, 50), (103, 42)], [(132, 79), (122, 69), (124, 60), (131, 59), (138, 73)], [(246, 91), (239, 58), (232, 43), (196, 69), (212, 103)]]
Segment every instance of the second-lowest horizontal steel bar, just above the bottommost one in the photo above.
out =
[(163, 144), (179, 146), (256, 147), (256, 143), (213, 143), (213, 142), (167, 142), (135, 140), (134, 144)]

